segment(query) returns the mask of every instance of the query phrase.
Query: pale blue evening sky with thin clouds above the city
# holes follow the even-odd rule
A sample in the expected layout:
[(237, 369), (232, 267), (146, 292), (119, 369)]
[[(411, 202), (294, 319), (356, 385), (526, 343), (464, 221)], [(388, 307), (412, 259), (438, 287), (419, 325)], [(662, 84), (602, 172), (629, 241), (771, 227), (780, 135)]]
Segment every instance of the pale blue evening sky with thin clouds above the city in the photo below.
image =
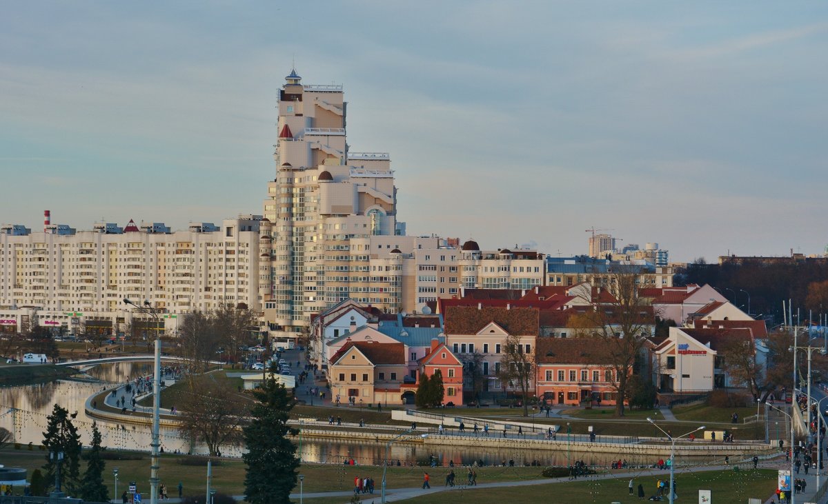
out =
[(277, 91), (343, 84), (409, 234), (822, 254), (828, 2), (7, 2), (0, 223), (262, 214)]

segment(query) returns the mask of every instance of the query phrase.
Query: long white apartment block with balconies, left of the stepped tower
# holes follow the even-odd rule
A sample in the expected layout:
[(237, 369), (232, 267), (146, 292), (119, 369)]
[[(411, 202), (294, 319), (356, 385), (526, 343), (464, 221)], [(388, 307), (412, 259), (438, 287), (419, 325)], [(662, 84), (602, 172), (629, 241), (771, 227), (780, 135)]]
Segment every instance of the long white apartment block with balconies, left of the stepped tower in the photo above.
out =
[[(3, 226), (0, 330), (39, 324), (73, 334), (114, 334), (133, 320), (124, 298), (150, 301), (167, 332), (175, 332), (178, 314), (192, 310), (244, 303), (258, 312), (260, 225), (261, 233), (270, 233), (270, 223), (259, 215), (176, 232), (161, 223), (132, 221), (124, 228), (103, 223), (74, 233)], [(150, 319), (135, 318), (144, 325)]]

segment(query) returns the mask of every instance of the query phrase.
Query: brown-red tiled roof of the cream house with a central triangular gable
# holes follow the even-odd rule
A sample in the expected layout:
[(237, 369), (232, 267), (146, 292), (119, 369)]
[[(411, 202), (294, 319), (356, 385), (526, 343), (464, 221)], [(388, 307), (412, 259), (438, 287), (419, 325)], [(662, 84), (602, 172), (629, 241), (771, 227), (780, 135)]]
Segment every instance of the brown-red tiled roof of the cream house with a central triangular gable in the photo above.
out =
[(537, 336), (537, 308), (488, 308), (476, 306), (450, 306), (445, 312), (445, 334), (477, 334), (487, 324), (494, 322), (517, 336)]

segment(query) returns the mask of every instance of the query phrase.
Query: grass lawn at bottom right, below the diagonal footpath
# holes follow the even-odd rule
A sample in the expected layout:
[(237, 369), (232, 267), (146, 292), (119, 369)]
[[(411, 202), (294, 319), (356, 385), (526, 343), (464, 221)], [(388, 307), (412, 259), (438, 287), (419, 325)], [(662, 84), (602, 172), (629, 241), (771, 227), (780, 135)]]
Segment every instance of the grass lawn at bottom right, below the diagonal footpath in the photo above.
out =
[[(655, 477), (634, 478), (635, 487), (643, 483), (645, 496), (655, 492)], [(628, 478), (595, 480), (586, 482), (551, 483), (526, 487), (485, 488), (439, 492), (431, 496), (409, 499), (411, 504), (442, 504), (444, 502), (508, 502), (509, 504), (537, 504), (537, 502), (642, 502), (637, 496), (628, 495)], [(744, 504), (750, 497), (764, 502), (776, 489), (776, 472), (758, 471), (710, 471), (676, 475), (677, 495), (680, 502), (696, 502), (700, 489), (710, 490), (716, 504)], [(665, 499), (666, 500), (666, 499)], [(316, 502), (310, 501), (307, 502)], [(320, 501), (320, 504), (322, 501)]]

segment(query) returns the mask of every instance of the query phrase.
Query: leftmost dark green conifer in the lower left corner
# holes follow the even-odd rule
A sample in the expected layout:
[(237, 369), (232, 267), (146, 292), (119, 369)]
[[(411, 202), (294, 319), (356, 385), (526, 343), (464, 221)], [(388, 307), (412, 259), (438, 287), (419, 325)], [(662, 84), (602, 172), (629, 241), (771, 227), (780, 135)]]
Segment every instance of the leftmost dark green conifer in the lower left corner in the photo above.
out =
[(63, 453), (63, 460), (60, 462), (60, 490), (66, 495), (77, 494), (80, 482), (80, 434), (72, 424), (72, 419), (77, 415), (70, 415), (69, 410), (55, 404), (51, 415), (46, 417), (46, 432), (43, 433), (43, 446), (46, 447), (46, 464), (43, 469), (46, 472), (46, 482), (51, 485), (55, 481), (57, 462), (52, 458), (52, 454)]

